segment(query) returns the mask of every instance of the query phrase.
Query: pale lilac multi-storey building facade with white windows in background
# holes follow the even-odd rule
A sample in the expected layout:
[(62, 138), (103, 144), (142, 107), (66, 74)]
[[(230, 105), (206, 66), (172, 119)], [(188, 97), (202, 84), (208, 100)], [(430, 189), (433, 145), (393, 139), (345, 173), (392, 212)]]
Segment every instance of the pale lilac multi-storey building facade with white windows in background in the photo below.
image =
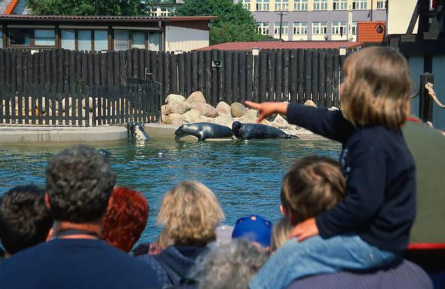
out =
[[(258, 31), (282, 40), (357, 41), (357, 22), (387, 21), (387, 0), (234, 0), (250, 10)], [(282, 15), (280, 15), (282, 14)]]

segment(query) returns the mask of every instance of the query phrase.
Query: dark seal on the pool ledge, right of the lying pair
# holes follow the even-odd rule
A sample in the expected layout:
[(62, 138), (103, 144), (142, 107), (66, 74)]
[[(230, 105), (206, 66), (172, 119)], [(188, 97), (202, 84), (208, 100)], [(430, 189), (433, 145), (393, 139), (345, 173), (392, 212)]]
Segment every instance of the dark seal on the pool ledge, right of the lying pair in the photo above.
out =
[(251, 140), (254, 138), (298, 138), (296, 135), (288, 135), (280, 129), (273, 126), (266, 126), (265, 124), (241, 124), (241, 122), (234, 122), (232, 124), (232, 131), (236, 138), (241, 140)]

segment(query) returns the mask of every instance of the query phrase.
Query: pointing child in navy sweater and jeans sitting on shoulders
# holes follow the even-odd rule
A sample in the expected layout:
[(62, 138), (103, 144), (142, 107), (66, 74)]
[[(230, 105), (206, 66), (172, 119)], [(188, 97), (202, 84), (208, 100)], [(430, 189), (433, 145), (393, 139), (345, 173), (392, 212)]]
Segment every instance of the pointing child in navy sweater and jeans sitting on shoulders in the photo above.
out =
[[(291, 236), (299, 242), (294, 243), (296, 262), (290, 273), (282, 276), (277, 264), (283, 260), (275, 267), (268, 262), (250, 283), (252, 289), (282, 288), (312, 274), (388, 265), (398, 261), (408, 245), (416, 183), (414, 160), (401, 133), (410, 113), (407, 61), (392, 49), (370, 47), (346, 58), (343, 76), (341, 110), (246, 101), (260, 111), (258, 121), (286, 114), (289, 123), (341, 142), (347, 184), (343, 201), (293, 229)], [(310, 238), (317, 235), (321, 238)], [(261, 272), (267, 275), (261, 278)]]

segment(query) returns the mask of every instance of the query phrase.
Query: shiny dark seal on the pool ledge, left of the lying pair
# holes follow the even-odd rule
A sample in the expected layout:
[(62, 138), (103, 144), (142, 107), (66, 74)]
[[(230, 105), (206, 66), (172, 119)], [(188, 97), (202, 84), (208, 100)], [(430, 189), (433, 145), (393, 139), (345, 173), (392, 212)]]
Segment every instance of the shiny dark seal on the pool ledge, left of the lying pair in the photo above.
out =
[(183, 124), (175, 131), (176, 139), (184, 135), (193, 135), (198, 140), (207, 138), (232, 138), (232, 129), (211, 122), (197, 122), (195, 124)]

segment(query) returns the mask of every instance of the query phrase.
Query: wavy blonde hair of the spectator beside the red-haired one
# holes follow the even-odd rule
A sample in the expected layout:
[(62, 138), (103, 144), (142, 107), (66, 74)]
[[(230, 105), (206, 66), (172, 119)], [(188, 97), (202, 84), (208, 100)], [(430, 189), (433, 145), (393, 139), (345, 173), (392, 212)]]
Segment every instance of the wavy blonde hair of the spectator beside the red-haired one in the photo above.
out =
[(215, 228), (224, 220), (213, 192), (197, 181), (183, 181), (165, 193), (157, 221), (165, 238), (175, 245), (204, 246), (215, 240)]

